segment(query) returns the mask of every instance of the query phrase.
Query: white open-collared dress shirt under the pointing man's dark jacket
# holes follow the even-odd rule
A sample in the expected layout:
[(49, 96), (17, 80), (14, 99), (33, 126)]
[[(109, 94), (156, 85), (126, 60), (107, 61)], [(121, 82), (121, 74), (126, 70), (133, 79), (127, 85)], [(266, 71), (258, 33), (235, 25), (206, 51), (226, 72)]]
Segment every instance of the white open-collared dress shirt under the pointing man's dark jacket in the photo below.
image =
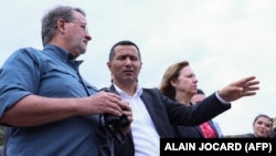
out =
[(160, 136), (156, 131), (145, 103), (140, 98), (142, 89), (137, 85), (136, 93), (129, 96), (115, 84), (114, 86), (123, 101), (129, 102), (132, 110), (134, 121), (130, 128), (135, 144), (135, 156), (159, 156)]

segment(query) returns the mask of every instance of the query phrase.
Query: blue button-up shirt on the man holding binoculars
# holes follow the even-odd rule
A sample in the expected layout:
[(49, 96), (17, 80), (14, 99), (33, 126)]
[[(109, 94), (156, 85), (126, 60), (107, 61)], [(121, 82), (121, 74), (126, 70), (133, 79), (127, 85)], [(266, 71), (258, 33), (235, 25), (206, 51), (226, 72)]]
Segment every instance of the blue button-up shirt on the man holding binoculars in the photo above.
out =
[[(12, 53), (0, 70), (0, 117), (30, 94), (47, 97), (95, 94), (97, 89), (79, 76), (81, 63), (68, 51), (51, 44), (42, 51), (25, 48)], [(97, 116), (74, 116), (34, 127), (11, 127), (8, 155), (97, 155)]]

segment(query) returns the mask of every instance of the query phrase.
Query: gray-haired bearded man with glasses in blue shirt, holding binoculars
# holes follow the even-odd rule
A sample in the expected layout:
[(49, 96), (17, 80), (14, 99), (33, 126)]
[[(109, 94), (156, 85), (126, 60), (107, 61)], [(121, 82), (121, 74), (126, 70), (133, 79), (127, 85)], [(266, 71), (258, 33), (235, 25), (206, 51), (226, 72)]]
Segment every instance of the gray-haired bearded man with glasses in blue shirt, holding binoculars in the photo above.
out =
[[(9, 156), (98, 156), (98, 114), (126, 115), (121, 98), (78, 72), (92, 37), (85, 12), (56, 7), (42, 19), (43, 50), (19, 49), (0, 70), (0, 123), (9, 126)], [(126, 133), (129, 125), (124, 128)]]

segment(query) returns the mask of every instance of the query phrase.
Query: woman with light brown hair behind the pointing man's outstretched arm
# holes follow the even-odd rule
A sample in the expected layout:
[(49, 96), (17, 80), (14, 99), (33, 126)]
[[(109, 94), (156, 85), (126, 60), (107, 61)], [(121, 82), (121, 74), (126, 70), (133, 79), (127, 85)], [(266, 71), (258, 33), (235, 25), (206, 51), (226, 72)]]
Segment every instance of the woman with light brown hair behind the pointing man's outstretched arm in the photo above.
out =
[[(188, 61), (170, 65), (162, 77), (159, 90), (171, 100), (192, 105), (191, 98), (198, 93), (198, 80)], [(199, 114), (200, 115), (200, 114)], [(220, 132), (212, 121), (198, 126), (176, 126), (178, 137), (219, 138)]]

